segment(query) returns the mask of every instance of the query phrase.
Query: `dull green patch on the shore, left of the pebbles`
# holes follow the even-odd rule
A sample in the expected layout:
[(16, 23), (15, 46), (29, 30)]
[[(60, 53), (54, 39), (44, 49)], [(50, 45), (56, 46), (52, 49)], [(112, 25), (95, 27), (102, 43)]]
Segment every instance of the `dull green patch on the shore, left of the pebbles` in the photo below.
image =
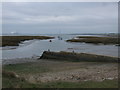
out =
[(23, 63), (23, 64), (12, 64), (3, 66), (3, 70), (12, 71), (18, 74), (36, 74), (49, 72), (50, 69), (47, 67), (43, 67), (40, 64), (34, 63)]

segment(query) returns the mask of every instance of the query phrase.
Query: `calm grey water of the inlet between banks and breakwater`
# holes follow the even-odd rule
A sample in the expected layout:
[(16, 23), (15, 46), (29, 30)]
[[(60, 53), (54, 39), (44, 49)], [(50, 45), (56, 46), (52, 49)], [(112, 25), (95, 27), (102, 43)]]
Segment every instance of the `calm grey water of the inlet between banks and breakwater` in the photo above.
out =
[(118, 56), (118, 46), (114, 45), (94, 45), (86, 43), (68, 43), (67, 39), (76, 37), (76, 35), (61, 35), (63, 40), (58, 40), (58, 35), (52, 42), (49, 40), (29, 40), (20, 44), (16, 49), (2, 50), (3, 59), (13, 58), (31, 58), (34, 56), (41, 56), (43, 51), (69, 51), (93, 53), (106, 56)]

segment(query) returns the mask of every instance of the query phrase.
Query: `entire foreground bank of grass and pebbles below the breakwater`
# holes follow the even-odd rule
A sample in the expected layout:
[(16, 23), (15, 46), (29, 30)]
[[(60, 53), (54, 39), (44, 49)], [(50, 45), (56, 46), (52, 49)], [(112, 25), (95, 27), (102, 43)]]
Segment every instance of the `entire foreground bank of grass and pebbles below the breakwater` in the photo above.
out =
[[(76, 71), (77, 70), (77, 71)], [(97, 74), (97, 72), (99, 73)], [(79, 74), (78, 74), (79, 73)], [(95, 78), (109, 78), (117, 76), (116, 63), (96, 62), (59, 62), (41, 60), (31, 63), (10, 64), (3, 66), (2, 87), (3, 88), (117, 88), (117, 79), (96, 81)], [(64, 76), (63, 76), (64, 74)], [(76, 81), (76, 75), (80, 80)], [(116, 74), (116, 75), (115, 75)], [(74, 78), (70, 78), (74, 75)], [(77, 75), (77, 76), (78, 76)], [(115, 76), (114, 76), (115, 75)], [(90, 77), (91, 76), (91, 77)], [(34, 81), (37, 78), (44, 80)], [(55, 77), (60, 77), (56, 80)], [(62, 80), (62, 77), (66, 78)], [(94, 77), (92, 79), (92, 77)], [(53, 80), (46, 81), (46, 79)], [(91, 79), (89, 81), (83, 81)], [(71, 80), (71, 81), (69, 81)]]

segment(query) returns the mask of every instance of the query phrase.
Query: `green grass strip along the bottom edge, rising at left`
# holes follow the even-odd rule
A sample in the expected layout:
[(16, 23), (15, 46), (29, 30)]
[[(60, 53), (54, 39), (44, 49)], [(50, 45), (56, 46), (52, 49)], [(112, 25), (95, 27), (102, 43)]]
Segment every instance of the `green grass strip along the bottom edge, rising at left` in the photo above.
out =
[(118, 88), (117, 80), (85, 81), (85, 82), (47, 82), (47, 83), (29, 83), (17, 78), (2, 78), (3, 88)]

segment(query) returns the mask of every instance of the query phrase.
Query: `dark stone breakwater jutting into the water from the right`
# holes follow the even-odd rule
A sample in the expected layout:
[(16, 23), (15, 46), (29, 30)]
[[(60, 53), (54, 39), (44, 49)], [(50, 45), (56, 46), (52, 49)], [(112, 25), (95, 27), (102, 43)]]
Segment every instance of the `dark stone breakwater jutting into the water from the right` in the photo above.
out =
[(39, 59), (54, 59), (60, 61), (87, 61), (87, 62), (118, 62), (117, 57), (87, 54), (87, 53), (74, 53), (74, 52), (49, 52), (44, 51)]

